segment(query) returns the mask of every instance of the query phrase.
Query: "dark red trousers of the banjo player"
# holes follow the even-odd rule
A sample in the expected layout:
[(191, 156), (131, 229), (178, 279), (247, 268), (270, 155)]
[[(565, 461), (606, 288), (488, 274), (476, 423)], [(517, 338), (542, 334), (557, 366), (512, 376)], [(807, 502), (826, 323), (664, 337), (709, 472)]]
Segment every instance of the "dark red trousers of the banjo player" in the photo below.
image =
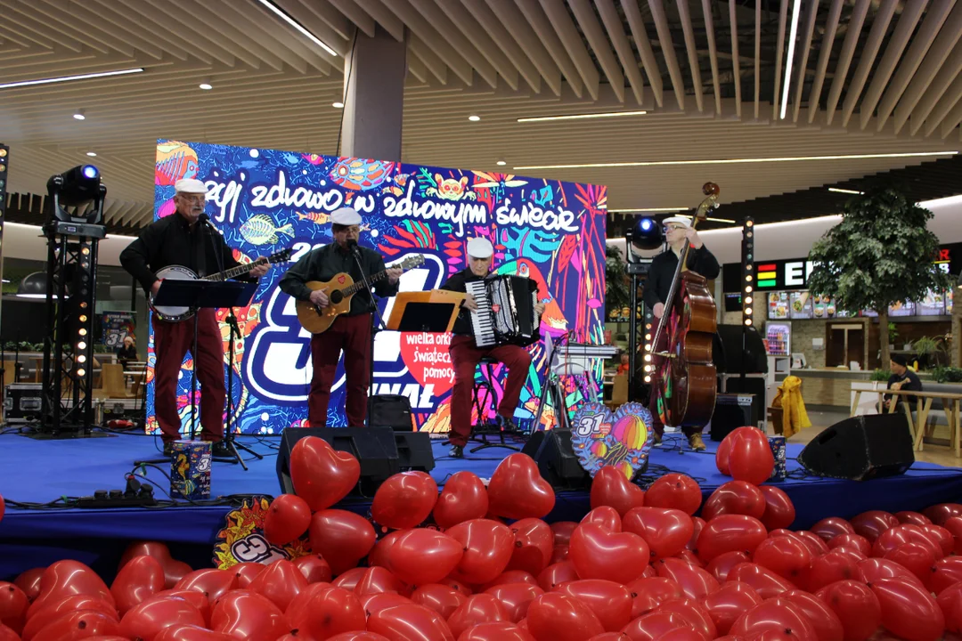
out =
[[(154, 407), (157, 422), (164, 432), (164, 442), (181, 437), (180, 415), (177, 413), (177, 378), (184, 356), (193, 351), (193, 319), (168, 323), (154, 321)], [(197, 353), (193, 366), (200, 383), (200, 437), (205, 441), (219, 441), (224, 435), (224, 344), (220, 336), (214, 309), (197, 312)]]

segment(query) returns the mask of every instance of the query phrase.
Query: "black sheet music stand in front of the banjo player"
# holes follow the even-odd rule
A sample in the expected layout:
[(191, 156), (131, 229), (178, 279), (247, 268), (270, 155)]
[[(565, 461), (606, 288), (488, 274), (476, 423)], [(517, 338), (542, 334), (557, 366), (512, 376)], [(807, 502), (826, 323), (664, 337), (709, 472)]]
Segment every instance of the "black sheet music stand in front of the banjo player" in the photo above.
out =
[[(250, 305), (251, 298), (257, 290), (257, 283), (241, 283), (239, 281), (181, 281), (177, 279), (165, 279), (161, 282), (160, 289), (154, 297), (155, 307), (170, 308), (191, 308), (193, 314), (193, 344), (190, 348), (190, 355), (194, 359), (194, 366), (190, 370), (190, 439), (197, 437), (197, 314), (196, 310), (201, 308), (234, 308), (246, 307)], [(231, 363), (233, 367), (233, 363)], [(228, 389), (230, 394), (231, 390)], [(237, 462), (241, 461), (234, 446), (234, 439), (230, 437), (230, 414), (227, 417), (227, 434), (224, 439), (227, 446), (235, 456)], [(168, 459), (160, 458), (154, 460), (135, 461), (135, 465), (140, 463), (167, 462)], [(232, 461), (235, 462), (235, 461)]]

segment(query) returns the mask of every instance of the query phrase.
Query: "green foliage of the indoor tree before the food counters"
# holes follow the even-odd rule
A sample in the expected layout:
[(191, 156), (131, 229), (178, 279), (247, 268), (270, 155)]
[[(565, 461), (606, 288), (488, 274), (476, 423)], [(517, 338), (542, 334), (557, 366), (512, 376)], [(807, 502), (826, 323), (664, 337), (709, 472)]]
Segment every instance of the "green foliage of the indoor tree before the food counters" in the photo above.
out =
[(921, 300), (952, 286), (932, 264), (939, 239), (926, 229), (932, 212), (909, 202), (897, 187), (880, 185), (848, 201), (842, 222), (818, 240), (808, 258), (812, 293), (838, 308), (885, 313), (898, 302)]

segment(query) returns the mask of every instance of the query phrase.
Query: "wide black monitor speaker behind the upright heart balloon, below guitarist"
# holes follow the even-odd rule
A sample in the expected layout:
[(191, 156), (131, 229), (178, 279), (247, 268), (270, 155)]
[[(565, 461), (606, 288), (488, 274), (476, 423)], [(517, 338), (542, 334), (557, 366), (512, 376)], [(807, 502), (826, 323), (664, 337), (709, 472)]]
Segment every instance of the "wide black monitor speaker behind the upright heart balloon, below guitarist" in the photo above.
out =
[[(291, 450), (294, 445), (305, 436), (317, 436), (335, 450), (349, 452), (358, 459), (361, 480), (352, 494), (371, 497), (381, 483), (401, 471), (396, 433), (401, 432), (391, 428), (289, 428), (281, 434), (281, 449), (277, 454), (277, 479), (281, 489), (287, 494), (294, 491), (291, 482)], [(433, 457), (431, 466), (434, 466)]]

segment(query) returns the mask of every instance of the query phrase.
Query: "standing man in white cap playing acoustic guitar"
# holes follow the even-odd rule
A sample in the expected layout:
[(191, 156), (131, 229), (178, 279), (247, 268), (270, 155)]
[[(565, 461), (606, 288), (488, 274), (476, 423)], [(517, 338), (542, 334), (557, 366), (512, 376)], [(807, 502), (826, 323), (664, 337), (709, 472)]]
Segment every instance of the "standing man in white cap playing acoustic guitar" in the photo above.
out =
[[(300, 308), (307, 308), (308, 313), (316, 317), (316, 329), (311, 336), (314, 378), (308, 398), (311, 427), (327, 425), (331, 385), (343, 351), (347, 423), (350, 427), (363, 428), (367, 418), (373, 303), (370, 292), (363, 286), (352, 288), (353, 295), (345, 296), (342, 291), (363, 282), (358, 259), (364, 266), (364, 276), (381, 297), (397, 293), (404, 270), (385, 269), (380, 254), (358, 244), (361, 214), (356, 210), (345, 207), (331, 213), (331, 234), (334, 242), (312, 250), (295, 262), (279, 286), (298, 301), (298, 312)], [(341, 306), (346, 308), (343, 313), (339, 313)], [(301, 318), (301, 324), (306, 327), (310, 323)]]

